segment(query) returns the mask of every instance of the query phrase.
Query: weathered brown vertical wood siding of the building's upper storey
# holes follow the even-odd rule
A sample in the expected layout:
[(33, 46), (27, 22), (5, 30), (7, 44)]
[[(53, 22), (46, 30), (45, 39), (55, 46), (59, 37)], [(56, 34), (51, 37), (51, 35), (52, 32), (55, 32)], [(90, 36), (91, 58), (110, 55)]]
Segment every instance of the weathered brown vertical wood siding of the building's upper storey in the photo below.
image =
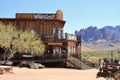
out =
[(0, 19), (4, 24), (12, 23), (17, 29), (33, 29), (38, 34), (51, 36), (53, 28), (63, 28), (65, 21), (44, 19)]

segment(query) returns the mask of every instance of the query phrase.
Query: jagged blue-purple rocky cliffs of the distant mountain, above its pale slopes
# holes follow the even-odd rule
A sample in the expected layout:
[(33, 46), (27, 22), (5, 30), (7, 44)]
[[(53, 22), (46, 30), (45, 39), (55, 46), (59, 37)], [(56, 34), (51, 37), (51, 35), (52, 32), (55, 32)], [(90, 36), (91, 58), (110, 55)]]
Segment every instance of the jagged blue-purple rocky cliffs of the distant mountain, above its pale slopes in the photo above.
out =
[(120, 42), (120, 25), (105, 26), (101, 29), (98, 29), (96, 26), (90, 26), (86, 29), (80, 29), (75, 31), (75, 35), (81, 35), (81, 38), (84, 42), (97, 41), (99, 39), (111, 41), (111, 42)]

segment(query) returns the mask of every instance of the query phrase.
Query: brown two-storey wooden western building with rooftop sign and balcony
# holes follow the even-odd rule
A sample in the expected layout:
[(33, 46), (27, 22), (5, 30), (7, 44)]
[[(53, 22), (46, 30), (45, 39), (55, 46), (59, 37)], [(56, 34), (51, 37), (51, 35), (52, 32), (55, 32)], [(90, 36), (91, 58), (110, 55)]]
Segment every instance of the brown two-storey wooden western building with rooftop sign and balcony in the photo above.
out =
[(45, 54), (81, 54), (81, 40), (77, 36), (64, 33), (63, 12), (54, 14), (16, 13), (16, 18), (0, 18), (4, 24), (12, 23), (17, 29), (37, 32), (46, 45)]

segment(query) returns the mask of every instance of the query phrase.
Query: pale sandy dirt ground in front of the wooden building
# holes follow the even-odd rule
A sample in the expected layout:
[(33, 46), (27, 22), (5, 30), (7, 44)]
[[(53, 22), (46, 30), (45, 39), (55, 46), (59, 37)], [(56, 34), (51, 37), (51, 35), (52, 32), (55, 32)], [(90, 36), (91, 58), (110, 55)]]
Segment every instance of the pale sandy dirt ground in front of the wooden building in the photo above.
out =
[(13, 67), (13, 72), (0, 75), (0, 80), (105, 80), (104, 78), (96, 78), (97, 72), (97, 69), (28, 69)]

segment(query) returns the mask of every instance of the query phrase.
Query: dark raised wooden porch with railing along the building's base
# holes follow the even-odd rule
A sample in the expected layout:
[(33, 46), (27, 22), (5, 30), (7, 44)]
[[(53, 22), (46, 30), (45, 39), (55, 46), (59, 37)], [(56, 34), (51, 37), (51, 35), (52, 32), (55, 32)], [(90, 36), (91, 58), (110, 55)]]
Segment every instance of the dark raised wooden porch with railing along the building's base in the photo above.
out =
[(14, 58), (11, 59), (13, 62), (29, 61), (37, 63), (46, 63), (46, 62), (64, 62), (67, 60), (67, 54), (42, 54), (42, 55), (31, 55), (31, 54), (17, 54)]

